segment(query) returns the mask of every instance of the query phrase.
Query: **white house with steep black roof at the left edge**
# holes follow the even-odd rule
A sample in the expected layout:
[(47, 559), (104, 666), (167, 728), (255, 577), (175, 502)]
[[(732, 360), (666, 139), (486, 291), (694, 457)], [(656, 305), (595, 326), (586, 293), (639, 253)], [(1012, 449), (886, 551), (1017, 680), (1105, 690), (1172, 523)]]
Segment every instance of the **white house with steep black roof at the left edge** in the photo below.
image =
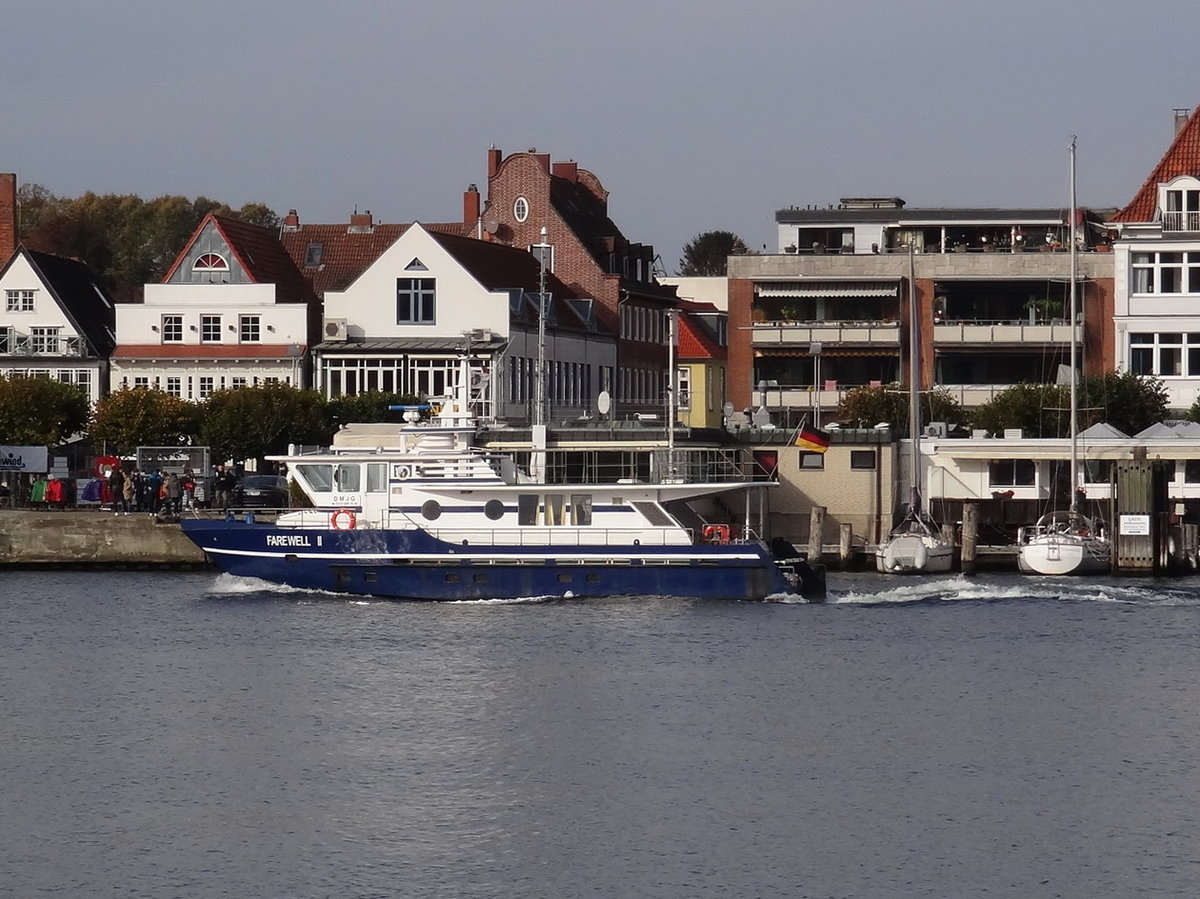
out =
[(0, 270), (0, 374), (108, 385), (113, 300), (83, 263), (18, 247)]

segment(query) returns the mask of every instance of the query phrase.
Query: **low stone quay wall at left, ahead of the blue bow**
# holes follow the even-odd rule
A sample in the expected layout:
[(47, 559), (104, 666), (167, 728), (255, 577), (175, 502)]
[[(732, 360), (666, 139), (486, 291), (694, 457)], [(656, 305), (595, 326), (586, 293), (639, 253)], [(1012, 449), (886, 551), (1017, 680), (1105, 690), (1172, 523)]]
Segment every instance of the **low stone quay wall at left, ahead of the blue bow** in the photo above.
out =
[(0, 565), (199, 568), (204, 553), (173, 521), (98, 510), (0, 510)]

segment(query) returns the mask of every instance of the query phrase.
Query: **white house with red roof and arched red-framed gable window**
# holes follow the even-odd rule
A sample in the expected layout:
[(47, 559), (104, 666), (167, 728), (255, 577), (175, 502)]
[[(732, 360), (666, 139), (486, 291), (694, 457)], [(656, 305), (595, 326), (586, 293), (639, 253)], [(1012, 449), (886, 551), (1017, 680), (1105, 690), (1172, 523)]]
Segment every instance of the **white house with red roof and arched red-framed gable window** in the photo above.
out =
[(209, 215), (162, 283), (118, 305), (113, 389), (204, 400), (269, 380), (302, 386), (314, 306), (272, 230)]

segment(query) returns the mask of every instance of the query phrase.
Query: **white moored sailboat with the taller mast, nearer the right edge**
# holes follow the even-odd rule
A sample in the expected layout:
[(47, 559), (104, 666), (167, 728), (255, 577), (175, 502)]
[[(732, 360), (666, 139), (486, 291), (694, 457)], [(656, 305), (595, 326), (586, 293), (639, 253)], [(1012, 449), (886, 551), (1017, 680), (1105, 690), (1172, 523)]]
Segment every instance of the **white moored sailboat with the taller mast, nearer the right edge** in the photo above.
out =
[(1076, 385), (1075, 319), (1079, 245), (1075, 235), (1075, 140), (1070, 142), (1070, 505), (1046, 513), (1016, 538), (1016, 564), (1037, 575), (1087, 575), (1109, 570), (1112, 546), (1099, 522), (1079, 509), (1079, 398)]

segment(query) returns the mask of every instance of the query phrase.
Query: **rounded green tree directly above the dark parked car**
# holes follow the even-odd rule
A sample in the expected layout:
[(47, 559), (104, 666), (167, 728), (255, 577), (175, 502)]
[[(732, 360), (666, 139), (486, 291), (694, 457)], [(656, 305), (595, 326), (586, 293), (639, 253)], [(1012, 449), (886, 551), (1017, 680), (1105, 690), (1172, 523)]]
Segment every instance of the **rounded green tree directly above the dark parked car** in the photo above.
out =
[(320, 443), (329, 434), (324, 397), (281, 382), (217, 390), (203, 416), (200, 437), (214, 459), (263, 460), (287, 453), (289, 443)]

